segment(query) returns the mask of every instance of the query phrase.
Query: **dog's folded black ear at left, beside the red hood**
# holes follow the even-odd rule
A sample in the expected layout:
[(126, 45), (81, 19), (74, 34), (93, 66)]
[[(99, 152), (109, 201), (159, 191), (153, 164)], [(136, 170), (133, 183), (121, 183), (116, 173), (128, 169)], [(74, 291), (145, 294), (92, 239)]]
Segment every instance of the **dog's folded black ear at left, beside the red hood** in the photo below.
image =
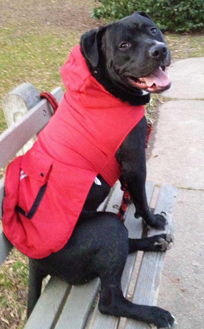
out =
[(90, 30), (83, 34), (80, 39), (82, 53), (89, 60), (93, 67), (98, 65), (100, 41), (106, 26)]

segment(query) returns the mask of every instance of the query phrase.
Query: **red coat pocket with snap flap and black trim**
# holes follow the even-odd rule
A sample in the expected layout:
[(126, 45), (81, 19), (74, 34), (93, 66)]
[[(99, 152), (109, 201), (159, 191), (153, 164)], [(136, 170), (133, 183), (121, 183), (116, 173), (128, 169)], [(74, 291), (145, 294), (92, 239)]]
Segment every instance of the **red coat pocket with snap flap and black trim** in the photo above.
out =
[(16, 210), (28, 219), (32, 219), (46, 192), (53, 161), (47, 154), (33, 149), (23, 156)]

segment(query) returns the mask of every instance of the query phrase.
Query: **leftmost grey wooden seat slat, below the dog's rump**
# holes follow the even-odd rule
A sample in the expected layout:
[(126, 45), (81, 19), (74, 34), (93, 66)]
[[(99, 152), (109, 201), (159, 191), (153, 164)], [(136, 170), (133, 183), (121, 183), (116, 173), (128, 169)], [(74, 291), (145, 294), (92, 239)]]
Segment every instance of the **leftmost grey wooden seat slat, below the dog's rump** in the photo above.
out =
[(64, 281), (51, 278), (24, 329), (52, 329), (60, 315), (70, 289), (71, 286)]

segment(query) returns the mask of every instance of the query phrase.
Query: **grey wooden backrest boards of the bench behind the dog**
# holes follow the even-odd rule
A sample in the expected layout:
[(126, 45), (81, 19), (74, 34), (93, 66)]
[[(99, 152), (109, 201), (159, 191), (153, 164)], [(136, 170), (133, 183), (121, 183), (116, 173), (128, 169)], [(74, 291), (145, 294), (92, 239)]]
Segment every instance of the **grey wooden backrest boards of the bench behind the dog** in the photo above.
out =
[[(59, 103), (63, 97), (61, 88), (55, 88), (52, 92)], [(20, 111), (20, 109), (19, 109)], [(25, 114), (13, 126), (8, 128), (0, 136), (0, 168), (8, 164), (16, 152), (45, 127), (53, 114), (53, 110), (47, 100), (41, 100), (27, 114)], [(2, 204), (4, 199), (4, 178), (0, 180), (0, 218), (2, 217)], [(11, 243), (5, 237), (0, 223), (0, 265), (12, 248)]]

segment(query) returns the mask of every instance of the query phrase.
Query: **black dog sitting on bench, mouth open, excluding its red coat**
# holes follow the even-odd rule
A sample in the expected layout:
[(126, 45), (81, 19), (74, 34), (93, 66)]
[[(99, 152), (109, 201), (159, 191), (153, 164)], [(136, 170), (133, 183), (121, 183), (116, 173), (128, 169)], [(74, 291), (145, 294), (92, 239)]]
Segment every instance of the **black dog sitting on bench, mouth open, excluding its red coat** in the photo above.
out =
[[(91, 30), (81, 37), (80, 44), (92, 75), (113, 96), (128, 101), (130, 105), (146, 104), (150, 92), (161, 92), (170, 87), (165, 73), (165, 67), (170, 65), (169, 50), (160, 30), (144, 12)], [(126, 181), (135, 205), (135, 217), (142, 216), (148, 225), (163, 229), (165, 218), (153, 215), (146, 199), (146, 133), (147, 122), (143, 117), (115, 157), (122, 168), (120, 181), (122, 185)], [(140, 240), (128, 239), (127, 229), (117, 215), (96, 212), (110, 191), (104, 179), (100, 175), (97, 177), (101, 185), (92, 184), (67, 244), (46, 258), (30, 259), (28, 315), (47, 274), (71, 284), (83, 284), (99, 276), (100, 312), (153, 323), (158, 328), (171, 328), (174, 317), (168, 311), (133, 304), (121, 291), (121, 275), (128, 253), (164, 250), (172, 241), (171, 237), (161, 234)], [(163, 244), (155, 243), (161, 240)]]

